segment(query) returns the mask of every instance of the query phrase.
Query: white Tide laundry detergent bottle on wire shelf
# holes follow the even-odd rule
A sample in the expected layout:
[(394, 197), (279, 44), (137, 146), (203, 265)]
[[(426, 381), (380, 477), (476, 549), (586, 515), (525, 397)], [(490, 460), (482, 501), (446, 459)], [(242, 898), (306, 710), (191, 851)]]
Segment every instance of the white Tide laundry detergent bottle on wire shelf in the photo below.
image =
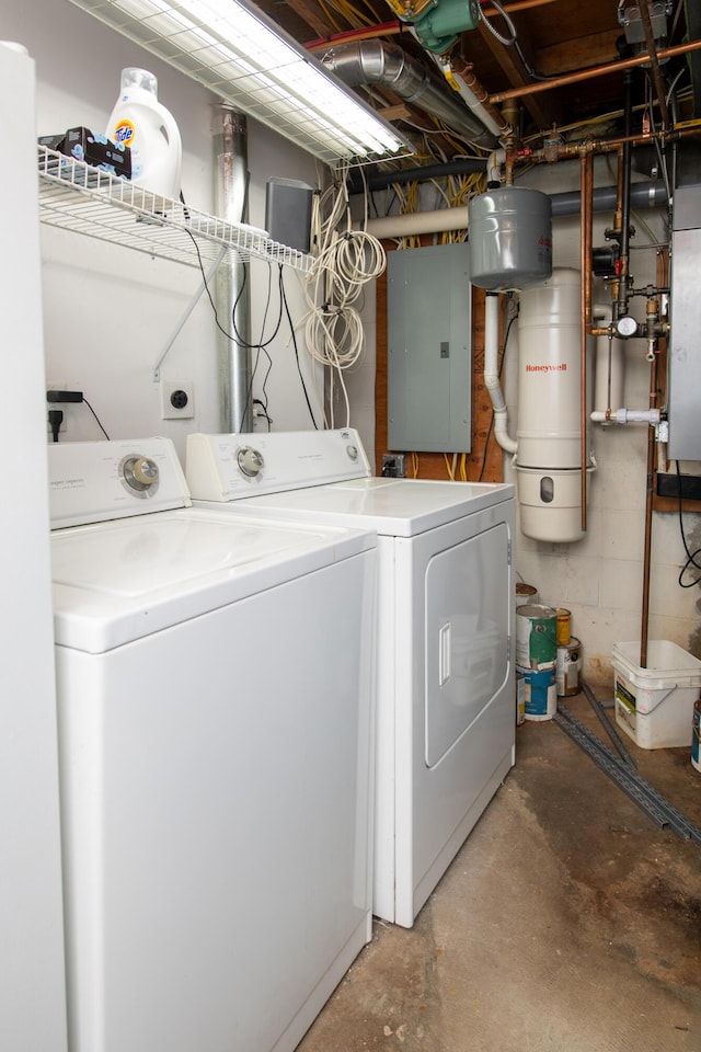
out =
[(158, 101), (158, 80), (146, 69), (122, 70), (122, 91), (106, 136), (131, 150), (131, 182), (177, 199), (182, 142), (173, 115)]

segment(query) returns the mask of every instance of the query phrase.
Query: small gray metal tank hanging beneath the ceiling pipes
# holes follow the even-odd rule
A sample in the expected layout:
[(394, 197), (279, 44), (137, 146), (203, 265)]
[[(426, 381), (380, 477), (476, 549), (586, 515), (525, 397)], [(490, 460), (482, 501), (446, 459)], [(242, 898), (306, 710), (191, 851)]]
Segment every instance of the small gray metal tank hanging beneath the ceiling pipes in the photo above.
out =
[(468, 218), (470, 281), (492, 291), (522, 288), (552, 272), (552, 203), (504, 186), (473, 197)]

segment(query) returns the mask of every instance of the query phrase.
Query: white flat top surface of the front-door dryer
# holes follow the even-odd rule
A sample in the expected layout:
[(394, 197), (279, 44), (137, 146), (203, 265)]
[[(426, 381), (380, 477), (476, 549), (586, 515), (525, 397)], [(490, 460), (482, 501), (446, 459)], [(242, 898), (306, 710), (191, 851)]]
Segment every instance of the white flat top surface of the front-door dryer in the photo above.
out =
[(512, 500), (510, 483), (370, 478), (250, 498), (232, 502), (229, 507), (371, 528), (391, 537), (413, 537)]

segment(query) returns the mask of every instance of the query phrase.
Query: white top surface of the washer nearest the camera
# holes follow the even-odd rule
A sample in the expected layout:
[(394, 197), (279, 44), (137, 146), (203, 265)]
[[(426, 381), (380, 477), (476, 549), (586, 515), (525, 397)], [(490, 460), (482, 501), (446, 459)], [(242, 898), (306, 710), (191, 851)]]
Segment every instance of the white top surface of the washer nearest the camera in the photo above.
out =
[(103, 653), (375, 544), (368, 531), (198, 508), (55, 530), (55, 640)]

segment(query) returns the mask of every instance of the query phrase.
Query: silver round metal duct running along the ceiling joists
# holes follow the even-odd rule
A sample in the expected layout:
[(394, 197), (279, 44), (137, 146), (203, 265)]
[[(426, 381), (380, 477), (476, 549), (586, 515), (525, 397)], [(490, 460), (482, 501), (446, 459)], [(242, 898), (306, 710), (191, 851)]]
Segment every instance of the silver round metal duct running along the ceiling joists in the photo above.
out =
[(438, 77), (414, 61), (400, 47), (383, 41), (354, 41), (331, 47), (321, 56), (326, 69), (349, 88), (380, 84), (390, 88), (405, 102), (443, 121), (466, 139), (493, 150), (497, 140), (462, 103), (450, 98)]

